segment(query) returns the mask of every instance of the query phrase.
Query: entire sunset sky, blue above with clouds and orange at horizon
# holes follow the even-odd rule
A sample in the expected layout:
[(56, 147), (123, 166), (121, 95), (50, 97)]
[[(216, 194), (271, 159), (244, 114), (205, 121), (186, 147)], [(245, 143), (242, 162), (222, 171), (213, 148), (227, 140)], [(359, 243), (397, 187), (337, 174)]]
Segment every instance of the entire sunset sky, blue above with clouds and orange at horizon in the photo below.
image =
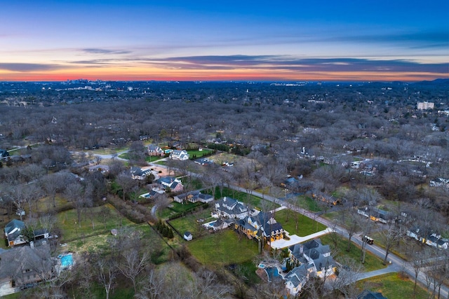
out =
[(449, 1), (2, 1), (0, 81), (74, 78), (449, 78)]

